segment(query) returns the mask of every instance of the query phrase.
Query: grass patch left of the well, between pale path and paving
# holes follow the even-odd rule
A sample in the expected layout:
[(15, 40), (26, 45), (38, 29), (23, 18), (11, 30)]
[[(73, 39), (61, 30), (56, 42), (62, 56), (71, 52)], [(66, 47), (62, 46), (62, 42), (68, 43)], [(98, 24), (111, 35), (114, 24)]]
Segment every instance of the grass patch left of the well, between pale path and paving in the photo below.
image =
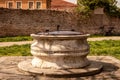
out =
[(30, 44), (0, 47), (0, 56), (30, 56)]

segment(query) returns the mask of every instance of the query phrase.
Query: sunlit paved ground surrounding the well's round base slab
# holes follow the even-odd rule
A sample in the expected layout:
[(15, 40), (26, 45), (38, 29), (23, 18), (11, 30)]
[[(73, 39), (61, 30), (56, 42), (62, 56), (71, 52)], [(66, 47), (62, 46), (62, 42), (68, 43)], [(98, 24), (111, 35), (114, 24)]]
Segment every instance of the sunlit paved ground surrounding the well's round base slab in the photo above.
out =
[(28, 59), (32, 57), (0, 57), (0, 80), (120, 80), (120, 61), (110, 56), (88, 56), (88, 59), (102, 63), (103, 71), (100, 74), (69, 78), (43, 77), (18, 69), (18, 63)]

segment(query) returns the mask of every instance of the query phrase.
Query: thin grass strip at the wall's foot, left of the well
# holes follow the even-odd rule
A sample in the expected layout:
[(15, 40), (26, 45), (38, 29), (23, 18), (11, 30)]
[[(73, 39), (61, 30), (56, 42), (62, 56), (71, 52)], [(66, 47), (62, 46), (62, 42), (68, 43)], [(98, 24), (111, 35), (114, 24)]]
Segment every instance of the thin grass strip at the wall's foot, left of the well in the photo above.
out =
[(0, 42), (16, 42), (16, 41), (31, 41), (30, 36), (16, 36), (16, 37), (3, 37), (0, 38)]

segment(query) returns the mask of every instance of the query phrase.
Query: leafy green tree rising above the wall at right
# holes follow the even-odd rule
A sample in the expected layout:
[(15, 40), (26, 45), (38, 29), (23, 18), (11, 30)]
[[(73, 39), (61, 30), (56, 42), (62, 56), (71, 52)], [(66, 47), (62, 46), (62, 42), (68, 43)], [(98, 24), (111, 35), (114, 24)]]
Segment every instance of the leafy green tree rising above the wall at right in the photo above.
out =
[(88, 15), (94, 9), (101, 7), (106, 14), (120, 17), (120, 9), (116, 4), (116, 0), (78, 0), (77, 11)]

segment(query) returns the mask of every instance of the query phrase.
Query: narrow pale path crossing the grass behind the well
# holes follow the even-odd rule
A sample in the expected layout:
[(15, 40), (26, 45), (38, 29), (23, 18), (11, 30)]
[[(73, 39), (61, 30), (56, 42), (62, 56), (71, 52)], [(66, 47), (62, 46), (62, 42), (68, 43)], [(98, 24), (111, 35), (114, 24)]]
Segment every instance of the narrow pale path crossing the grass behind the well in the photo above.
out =
[[(88, 38), (88, 41), (101, 41), (101, 40), (120, 40), (120, 36)], [(31, 43), (33, 43), (33, 41), (0, 42), (0, 47), (3, 47), (3, 46), (12, 46), (12, 45), (31, 44)]]

